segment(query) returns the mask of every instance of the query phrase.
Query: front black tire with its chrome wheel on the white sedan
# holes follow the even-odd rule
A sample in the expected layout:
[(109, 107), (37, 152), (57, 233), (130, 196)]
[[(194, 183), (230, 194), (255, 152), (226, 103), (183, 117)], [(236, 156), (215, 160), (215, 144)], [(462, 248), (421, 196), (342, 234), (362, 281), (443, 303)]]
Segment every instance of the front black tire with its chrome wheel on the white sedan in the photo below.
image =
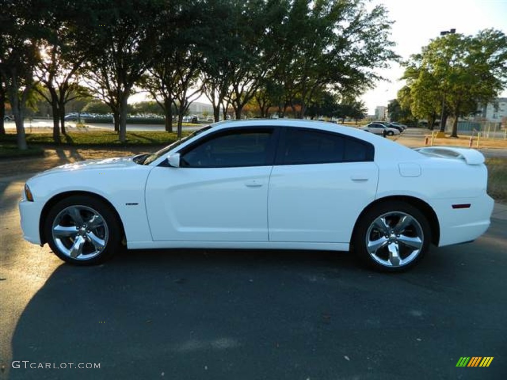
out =
[(86, 195), (57, 202), (44, 220), (44, 234), (53, 252), (75, 265), (94, 265), (121, 247), (123, 232), (115, 211)]

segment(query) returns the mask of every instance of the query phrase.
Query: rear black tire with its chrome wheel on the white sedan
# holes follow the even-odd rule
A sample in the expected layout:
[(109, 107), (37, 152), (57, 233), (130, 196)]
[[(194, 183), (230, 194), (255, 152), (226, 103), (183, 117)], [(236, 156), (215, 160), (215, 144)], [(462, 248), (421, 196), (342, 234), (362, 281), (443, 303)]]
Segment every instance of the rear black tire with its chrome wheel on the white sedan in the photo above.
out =
[(357, 258), (367, 267), (383, 272), (403, 272), (412, 268), (429, 250), (430, 242), (427, 218), (403, 201), (373, 206), (358, 220), (352, 237)]

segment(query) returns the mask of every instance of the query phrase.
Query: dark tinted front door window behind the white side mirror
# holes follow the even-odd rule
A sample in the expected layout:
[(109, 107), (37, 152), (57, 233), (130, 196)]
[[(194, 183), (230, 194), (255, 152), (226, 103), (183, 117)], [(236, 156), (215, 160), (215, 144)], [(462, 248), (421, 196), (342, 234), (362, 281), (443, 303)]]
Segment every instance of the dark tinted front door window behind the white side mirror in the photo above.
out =
[(272, 130), (235, 130), (214, 135), (182, 156), (183, 167), (268, 165)]

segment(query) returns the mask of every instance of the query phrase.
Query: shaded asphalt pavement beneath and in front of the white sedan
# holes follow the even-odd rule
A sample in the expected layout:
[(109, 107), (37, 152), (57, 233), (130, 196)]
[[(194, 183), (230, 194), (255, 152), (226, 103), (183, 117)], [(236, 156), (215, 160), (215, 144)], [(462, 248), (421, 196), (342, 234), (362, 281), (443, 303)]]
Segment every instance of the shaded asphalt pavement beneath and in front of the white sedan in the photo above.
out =
[[(0, 178), (0, 377), (505, 378), (507, 207), (475, 243), (394, 276), (309, 251), (129, 251), (75, 268), (21, 239), (26, 177)], [(456, 368), (462, 356), (494, 360)]]

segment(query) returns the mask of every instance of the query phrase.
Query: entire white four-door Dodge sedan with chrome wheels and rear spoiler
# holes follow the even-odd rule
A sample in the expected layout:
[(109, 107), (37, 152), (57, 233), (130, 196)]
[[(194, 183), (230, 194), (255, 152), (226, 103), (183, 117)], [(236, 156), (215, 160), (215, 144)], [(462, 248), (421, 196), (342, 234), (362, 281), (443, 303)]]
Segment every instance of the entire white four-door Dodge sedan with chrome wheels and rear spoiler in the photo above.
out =
[(24, 238), (69, 263), (144, 248), (350, 250), (402, 271), (429, 245), (473, 241), (493, 200), (477, 150), (410, 149), (303, 120), (206, 127), (154, 154), (67, 164), (30, 178)]

